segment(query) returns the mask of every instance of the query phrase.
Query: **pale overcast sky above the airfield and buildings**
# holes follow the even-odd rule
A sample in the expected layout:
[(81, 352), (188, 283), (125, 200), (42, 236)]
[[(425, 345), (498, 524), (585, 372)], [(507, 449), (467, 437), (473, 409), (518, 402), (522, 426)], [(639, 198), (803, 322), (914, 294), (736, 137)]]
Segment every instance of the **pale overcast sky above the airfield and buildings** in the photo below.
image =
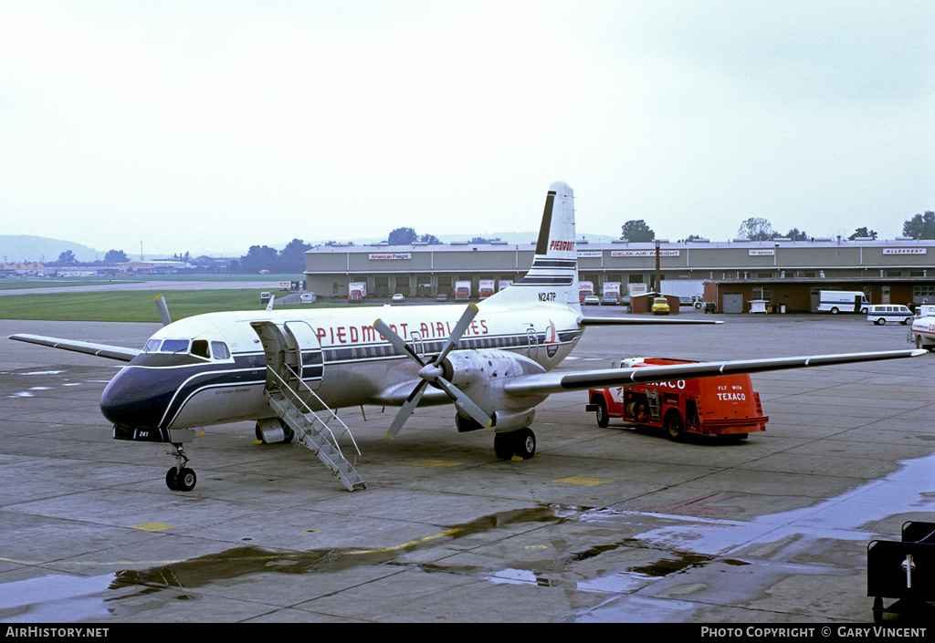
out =
[(2, 0), (0, 234), (901, 235), (935, 209), (931, 0)]

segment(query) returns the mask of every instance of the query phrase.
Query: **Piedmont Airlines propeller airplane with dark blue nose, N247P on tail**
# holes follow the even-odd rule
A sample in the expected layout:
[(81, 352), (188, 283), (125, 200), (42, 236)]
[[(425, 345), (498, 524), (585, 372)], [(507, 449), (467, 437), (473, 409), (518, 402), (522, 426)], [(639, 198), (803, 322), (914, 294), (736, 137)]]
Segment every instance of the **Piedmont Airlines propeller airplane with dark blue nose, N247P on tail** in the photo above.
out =
[[(289, 442), (297, 432), (299, 442), (325, 462), (334, 449), (317, 440), (330, 430), (324, 428), (326, 421), (309, 421), (309, 413), (318, 418), (317, 412), (341, 407), (399, 407), (387, 431), (392, 439), (416, 407), (453, 403), (459, 432), (493, 429), (498, 457), (528, 459), (536, 453), (530, 429), (536, 407), (552, 393), (926, 352), (555, 372), (589, 326), (723, 323), (583, 314), (573, 199), (568, 184), (555, 181), (549, 187), (525, 277), (463, 310), (447, 304), (273, 310), (270, 303), (263, 311), (207, 313), (172, 322), (160, 295), (156, 304), (164, 325), (142, 350), (48, 336), (9, 338), (127, 363), (102, 393), (101, 411), (113, 423), (115, 438), (170, 444), (168, 454), (177, 464), (166, 472), (165, 482), (182, 492), (194, 489), (196, 481), (184, 443), (209, 425), (255, 421), (256, 437), (267, 443)], [(347, 472), (352, 465), (341, 469), (342, 459), (338, 448), (329, 464), (332, 473), (343, 471), (350, 491), (366, 488), (362, 479), (352, 477), (356, 472)]]

